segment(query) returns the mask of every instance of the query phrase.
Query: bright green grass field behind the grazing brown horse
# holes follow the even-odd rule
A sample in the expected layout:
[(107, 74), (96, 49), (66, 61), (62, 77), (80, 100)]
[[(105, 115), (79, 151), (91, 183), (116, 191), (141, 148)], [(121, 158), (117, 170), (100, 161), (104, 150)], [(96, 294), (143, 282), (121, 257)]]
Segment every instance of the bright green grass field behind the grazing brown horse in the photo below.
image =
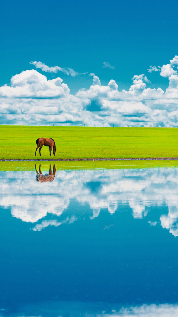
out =
[(0, 136), (0, 159), (35, 159), (40, 137), (55, 140), (56, 159), (178, 157), (178, 128), (0, 126)]

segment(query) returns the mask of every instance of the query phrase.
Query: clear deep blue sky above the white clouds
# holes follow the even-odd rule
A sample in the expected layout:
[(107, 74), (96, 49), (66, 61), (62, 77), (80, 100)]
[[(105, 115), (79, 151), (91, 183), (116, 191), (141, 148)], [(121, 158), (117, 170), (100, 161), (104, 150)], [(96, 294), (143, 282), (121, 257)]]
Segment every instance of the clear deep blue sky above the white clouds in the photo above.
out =
[[(178, 54), (177, 13), (176, 1), (3, 1), (0, 86), (10, 86), (12, 76), (36, 69), (29, 61), (41, 61), (94, 73), (103, 86), (114, 80), (119, 91), (129, 90), (135, 74), (145, 74), (151, 81), (147, 87), (165, 91), (168, 78), (147, 69), (162, 67)], [(103, 68), (104, 62), (114, 69)], [(92, 85), (88, 74), (37, 71), (48, 80), (61, 77), (71, 94)]]

